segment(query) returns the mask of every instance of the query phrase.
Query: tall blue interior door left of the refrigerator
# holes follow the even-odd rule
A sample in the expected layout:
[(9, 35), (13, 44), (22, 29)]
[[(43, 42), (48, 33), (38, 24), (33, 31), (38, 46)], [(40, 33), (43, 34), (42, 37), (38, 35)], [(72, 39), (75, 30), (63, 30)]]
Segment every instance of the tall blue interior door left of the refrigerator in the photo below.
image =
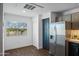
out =
[(49, 49), (49, 18), (43, 19), (43, 48)]

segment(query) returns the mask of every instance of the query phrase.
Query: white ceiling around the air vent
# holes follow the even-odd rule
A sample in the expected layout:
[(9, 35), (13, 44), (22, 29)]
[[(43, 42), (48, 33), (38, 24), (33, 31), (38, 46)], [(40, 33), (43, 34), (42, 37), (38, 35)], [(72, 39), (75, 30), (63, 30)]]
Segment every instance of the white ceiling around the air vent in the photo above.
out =
[(34, 10), (28, 10), (24, 9), (25, 4), (27, 3), (4, 3), (4, 12), (33, 17), (37, 14), (44, 14), (47, 12), (62, 12), (79, 7), (79, 4), (77, 3), (35, 3), (36, 5), (44, 8), (35, 5), (36, 8)]

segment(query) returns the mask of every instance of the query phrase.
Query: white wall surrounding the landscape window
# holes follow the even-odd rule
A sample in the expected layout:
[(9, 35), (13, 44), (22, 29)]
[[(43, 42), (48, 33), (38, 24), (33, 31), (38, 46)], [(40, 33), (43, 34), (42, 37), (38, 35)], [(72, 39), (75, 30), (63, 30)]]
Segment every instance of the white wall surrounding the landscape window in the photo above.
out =
[[(6, 26), (7, 21), (16, 21), (16, 22), (26, 22), (27, 23), (27, 35), (25, 36), (6, 36)], [(32, 18), (18, 16), (13, 14), (4, 13), (4, 49), (14, 49), (24, 46), (32, 45)]]

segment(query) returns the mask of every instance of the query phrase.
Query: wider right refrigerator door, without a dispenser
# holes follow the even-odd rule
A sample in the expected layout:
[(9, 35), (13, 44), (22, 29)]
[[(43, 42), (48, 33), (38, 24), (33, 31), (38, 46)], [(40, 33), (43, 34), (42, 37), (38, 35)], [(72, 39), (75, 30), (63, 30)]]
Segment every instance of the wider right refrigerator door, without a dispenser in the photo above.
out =
[(56, 56), (65, 56), (65, 23), (56, 23)]

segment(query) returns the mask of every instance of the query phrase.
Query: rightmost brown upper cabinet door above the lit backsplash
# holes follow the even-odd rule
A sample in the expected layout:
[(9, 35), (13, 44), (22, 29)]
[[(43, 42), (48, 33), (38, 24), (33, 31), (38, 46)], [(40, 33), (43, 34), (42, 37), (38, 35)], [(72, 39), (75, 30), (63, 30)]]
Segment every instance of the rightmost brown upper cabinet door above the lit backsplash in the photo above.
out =
[(79, 13), (72, 14), (72, 29), (79, 29)]

